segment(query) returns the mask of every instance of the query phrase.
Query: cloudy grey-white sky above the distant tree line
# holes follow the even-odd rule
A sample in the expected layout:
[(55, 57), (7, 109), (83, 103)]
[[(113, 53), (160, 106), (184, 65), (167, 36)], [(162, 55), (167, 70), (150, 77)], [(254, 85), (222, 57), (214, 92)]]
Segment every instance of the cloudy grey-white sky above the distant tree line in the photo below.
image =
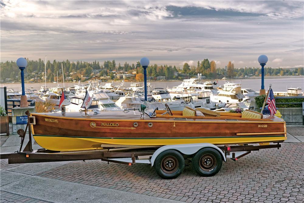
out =
[(1, 61), (303, 66), (303, 1), (1, 1)]

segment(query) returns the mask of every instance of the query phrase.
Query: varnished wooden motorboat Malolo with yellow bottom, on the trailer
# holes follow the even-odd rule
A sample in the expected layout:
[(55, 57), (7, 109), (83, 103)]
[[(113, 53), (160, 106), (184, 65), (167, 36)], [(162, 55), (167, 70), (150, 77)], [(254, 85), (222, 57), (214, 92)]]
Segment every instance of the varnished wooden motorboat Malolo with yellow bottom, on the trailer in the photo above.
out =
[[(173, 145), (191, 143), (247, 144), (286, 140), (285, 121), (245, 110), (242, 114), (190, 108), (156, 110), (154, 117), (140, 111), (32, 113), (33, 137), (45, 149), (72, 151), (101, 149), (102, 144)], [(203, 115), (204, 114), (204, 115)], [(216, 116), (216, 117), (214, 117)], [(254, 117), (254, 118), (250, 118)]]

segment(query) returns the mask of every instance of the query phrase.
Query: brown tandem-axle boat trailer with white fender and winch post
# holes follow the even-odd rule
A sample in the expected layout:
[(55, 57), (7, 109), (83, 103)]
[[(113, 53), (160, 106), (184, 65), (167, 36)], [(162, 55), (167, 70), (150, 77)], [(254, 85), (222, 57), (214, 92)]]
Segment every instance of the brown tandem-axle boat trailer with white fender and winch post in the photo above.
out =
[[(280, 142), (265, 145), (222, 145), (210, 143), (146, 146), (146, 145), (101, 145), (102, 149), (83, 151), (51, 151), (48, 149), (33, 150), (30, 125), (35, 123), (34, 117), (26, 112), (28, 122), (25, 131), (18, 130), (21, 137), (20, 150), (14, 153), (2, 153), (1, 159), (8, 159), (9, 164), (14, 163), (39, 163), (57, 161), (76, 161), (101, 159), (106, 162), (122, 163), (129, 166), (136, 163), (154, 166), (157, 174), (163, 178), (178, 177), (185, 167), (185, 161), (192, 162), (194, 170), (201, 176), (213, 176), (219, 172), (222, 161), (227, 158), (237, 161), (251, 151), (260, 149), (280, 148)], [(22, 150), (26, 132), (29, 142)], [(220, 162), (220, 163), (219, 163)]]

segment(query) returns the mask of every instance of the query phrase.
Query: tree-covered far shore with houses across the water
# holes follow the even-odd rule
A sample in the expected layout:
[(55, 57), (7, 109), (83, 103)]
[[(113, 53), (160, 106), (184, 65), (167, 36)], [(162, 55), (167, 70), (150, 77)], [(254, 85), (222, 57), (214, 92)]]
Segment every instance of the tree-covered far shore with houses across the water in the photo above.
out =
[[(5, 82), (6, 79), (9, 81), (20, 81), (20, 70), (16, 65), (15, 61), (1, 62), (1, 81)], [(123, 65), (120, 63), (117, 65), (116, 61), (104, 61), (102, 65), (98, 61), (85, 62), (85, 61), (50, 61), (48, 60), (46, 65), (42, 59), (38, 61), (27, 59), (27, 66), (25, 69), (25, 79), (29, 80), (32, 78), (41, 79), (44, 77), (44, 68), (47, 68), (47, 81), (57, 80), (57, 72), (62, 75), (62, 67), (64, 77), (72, 77), (73, 79), (79, 79), (80, 77), (91, 78), (92, 75), (99, 73), (99, 76), (110, 76), (114, 79), (114, 73), (116, 72), (136, 72), (136, 74), (143, 74), (143, 68), (139, 61), (132, 63), (131, 65), (125, 62)], [(94, 72), (94, 74), (92, 74)], [(71, 74), (70, 74), (71, 73)], [(179, 73), (179, 74), (177, 74)], [(180, 74), (181, 73), (181, 74)], [(245, 68), (234, 68), (234, 64), (231, 61), (228, 62), (227, 68), (217, 68), (215, 61), (209, 61), (203, 59), (198, 61), (197, 65), (189, 65), (184, 63), (183, 67), (176, 67), (175, 65), (157, 65), (151, 64), (147, 68), (147, 75), (156, 78), (157, 76), (165, 76), (166, 79), (181, 79), (182, 74), (187, 74), (189, 78), (201, 73), (207, 78), (220, 79), (223, 76), (235, 77), (235, 76), (258, 76), (261, 74), (261, 67), (245, 67)], [(304, 75), (302, 68), (265, 68), (265, 75)], [(7, 82), (7, 81), (6, 81)]]

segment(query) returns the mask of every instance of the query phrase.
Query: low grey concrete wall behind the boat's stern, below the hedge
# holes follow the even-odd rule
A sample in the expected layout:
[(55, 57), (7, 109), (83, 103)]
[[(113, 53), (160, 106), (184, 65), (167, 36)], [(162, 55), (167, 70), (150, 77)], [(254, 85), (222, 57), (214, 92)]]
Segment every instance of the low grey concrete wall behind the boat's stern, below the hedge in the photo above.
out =
[(286, 124), (302, 124), (302, 108), (278, 108)]

